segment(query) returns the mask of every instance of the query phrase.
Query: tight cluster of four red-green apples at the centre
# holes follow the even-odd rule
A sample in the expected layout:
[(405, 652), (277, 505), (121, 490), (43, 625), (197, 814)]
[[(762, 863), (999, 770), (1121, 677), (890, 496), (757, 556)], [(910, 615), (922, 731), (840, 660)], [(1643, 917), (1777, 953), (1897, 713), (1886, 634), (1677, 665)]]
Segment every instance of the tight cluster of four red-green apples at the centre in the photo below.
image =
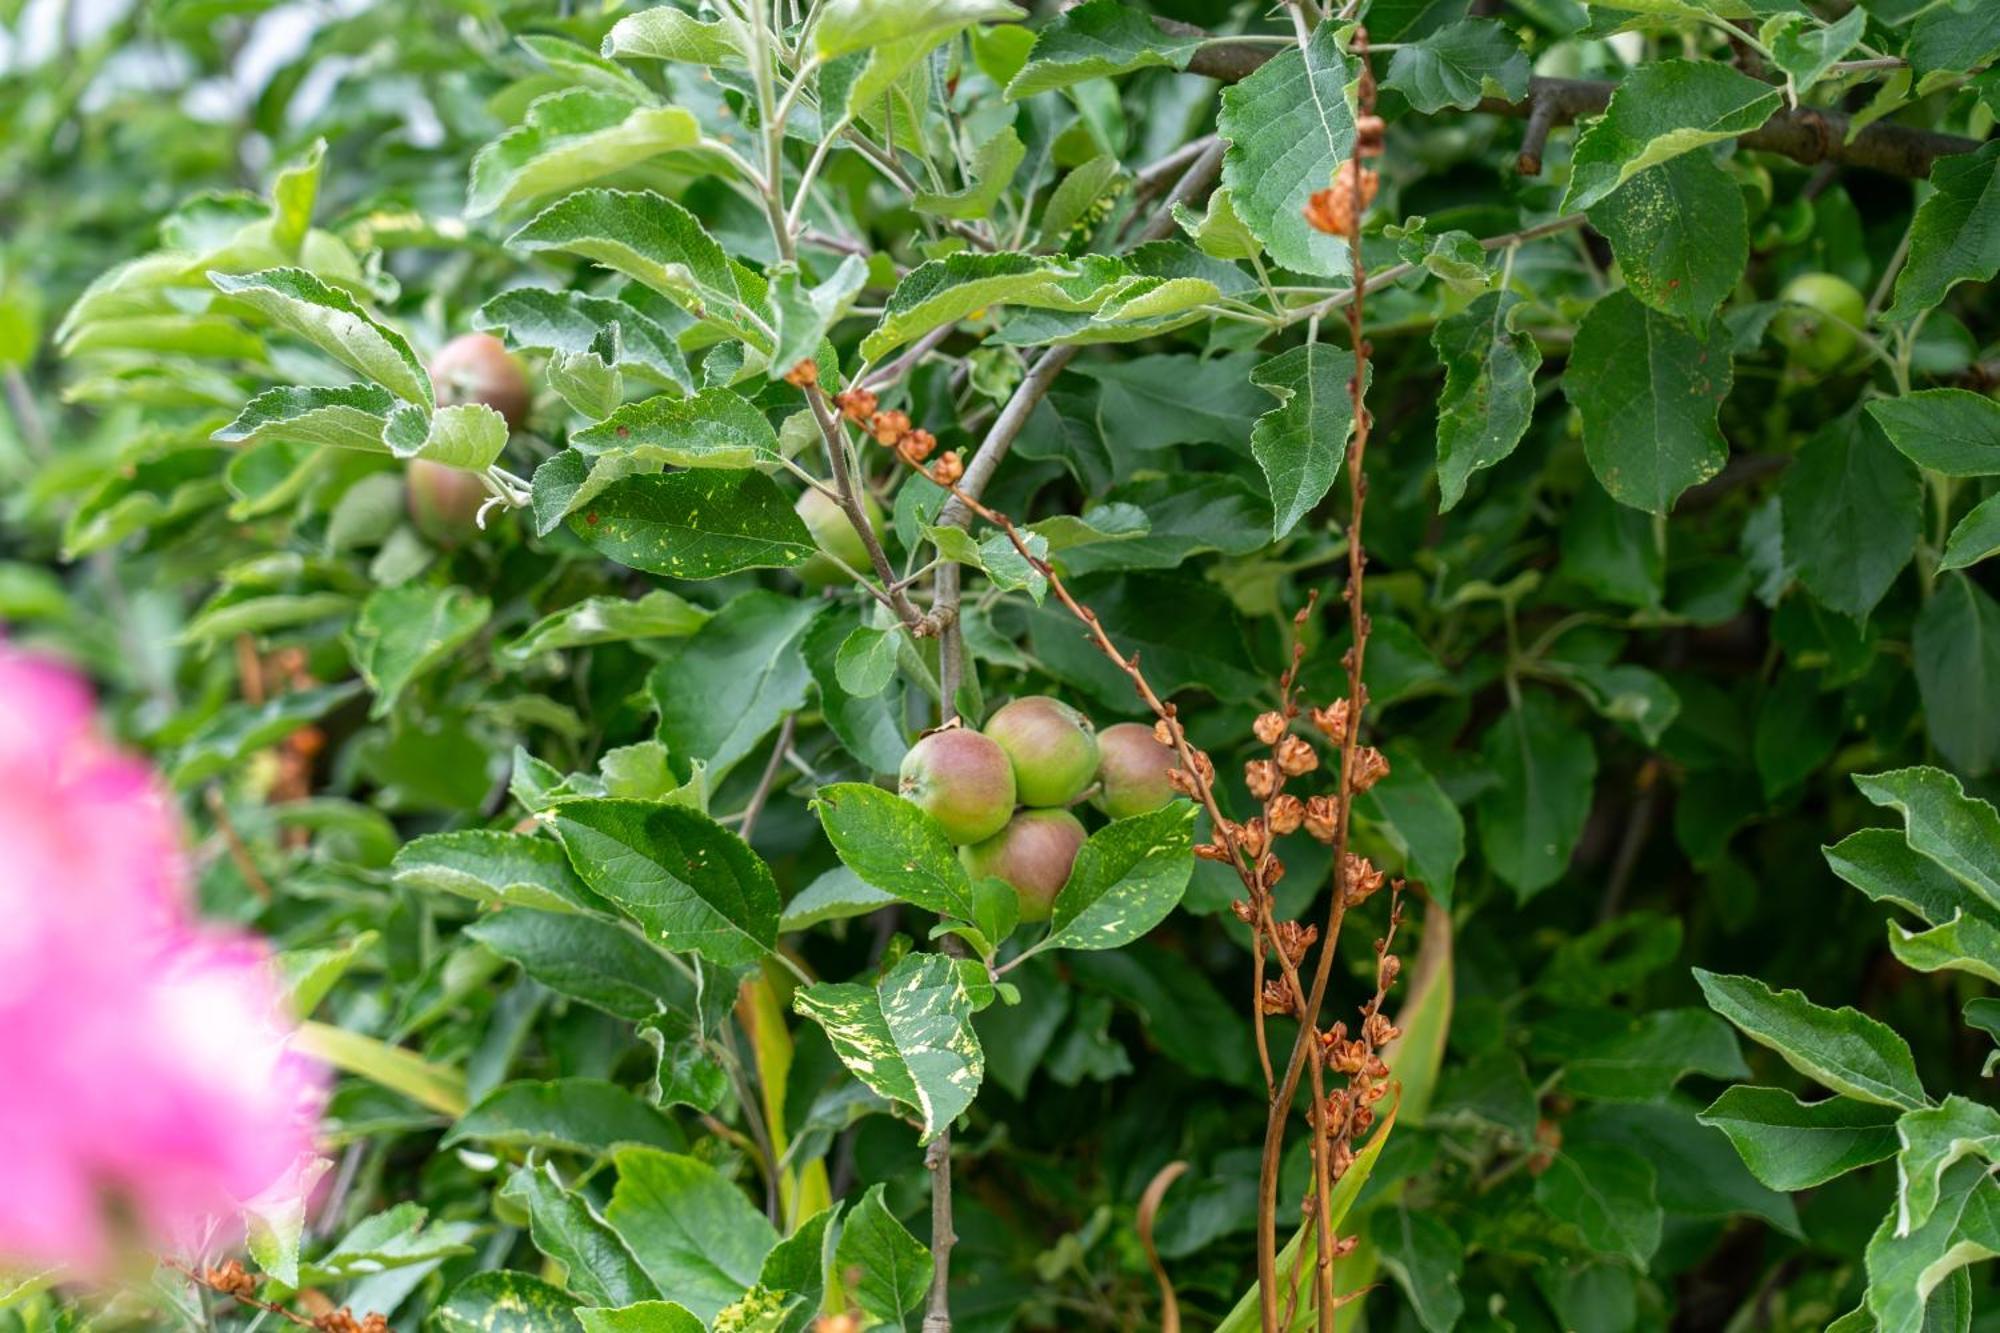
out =
[(1174, 799), (1178, 757), (1150, 727), (1098, 731), (1048, 695), (1016, 699), (984, 731), (934, 731), (902, 761), (900, 791), (958, 845), (974, 879), (1006, 881), (1022, 921), (1048, 921), (1070, 879), (1084, 825), (1070, 807), (1092, 801), (1110, 819)]

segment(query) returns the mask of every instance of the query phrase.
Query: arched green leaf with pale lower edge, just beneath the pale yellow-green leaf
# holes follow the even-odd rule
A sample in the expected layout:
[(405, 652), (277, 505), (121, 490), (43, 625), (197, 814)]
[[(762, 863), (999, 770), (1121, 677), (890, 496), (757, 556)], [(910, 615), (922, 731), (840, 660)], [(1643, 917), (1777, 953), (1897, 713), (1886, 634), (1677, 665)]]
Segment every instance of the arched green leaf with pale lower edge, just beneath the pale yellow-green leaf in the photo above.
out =
[(578, 254), (644, 282), (696, 318), (740, 326), (730, 256), (692, 212), (652, 190), (578, 190), (538, 212), (508, 244)]

